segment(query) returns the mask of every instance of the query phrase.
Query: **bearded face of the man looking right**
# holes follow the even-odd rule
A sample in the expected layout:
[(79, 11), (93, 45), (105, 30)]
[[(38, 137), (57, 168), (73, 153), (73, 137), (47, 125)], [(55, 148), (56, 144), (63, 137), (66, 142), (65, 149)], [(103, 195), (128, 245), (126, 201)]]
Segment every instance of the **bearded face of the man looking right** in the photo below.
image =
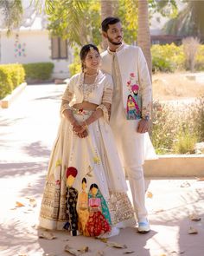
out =
[(109, 43), (120, 45), (123, 42), (124, 31), (121, 23), (109, 24), (109, 29), (104, 32)]

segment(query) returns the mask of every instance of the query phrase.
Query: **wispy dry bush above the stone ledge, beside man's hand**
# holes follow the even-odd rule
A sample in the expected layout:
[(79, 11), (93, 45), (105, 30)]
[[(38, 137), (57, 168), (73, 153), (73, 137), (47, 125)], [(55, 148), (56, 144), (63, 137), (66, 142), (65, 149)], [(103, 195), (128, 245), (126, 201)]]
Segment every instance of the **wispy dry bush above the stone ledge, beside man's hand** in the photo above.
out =
[(192, 103), (153, 103), (151, 141), (156, 154), (193, 154), (204, 141), (204, 97)]

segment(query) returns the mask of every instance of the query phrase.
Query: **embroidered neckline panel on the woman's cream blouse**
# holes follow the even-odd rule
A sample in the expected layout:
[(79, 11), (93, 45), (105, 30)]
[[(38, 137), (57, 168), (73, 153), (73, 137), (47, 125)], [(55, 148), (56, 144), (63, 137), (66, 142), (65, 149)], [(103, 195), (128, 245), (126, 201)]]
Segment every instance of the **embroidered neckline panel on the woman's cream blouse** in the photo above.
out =
[(99, 74), (96, 76), (95, 81), (92, 83), (84, 83), (85, 73), (82, 73), (80, 75), (80, 83), (78, 86), (78, 89), (80, 90), (80, 93), (84, 95), (84, 99), (86, 100), (88, 95), (94, 91), (98, 87), (99, 84)]

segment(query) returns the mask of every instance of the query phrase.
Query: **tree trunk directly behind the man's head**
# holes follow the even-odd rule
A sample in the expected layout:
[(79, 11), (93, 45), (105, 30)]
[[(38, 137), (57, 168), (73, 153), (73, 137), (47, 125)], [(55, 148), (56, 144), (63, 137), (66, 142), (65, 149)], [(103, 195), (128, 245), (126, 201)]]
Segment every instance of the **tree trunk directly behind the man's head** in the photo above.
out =
[[(113, 15), (113, 0), (101, 0), (101, 22), (108, 16)], [(104, 36), (102, 36), (102, 43), (101, 43), (102, 49), (107, 49), (108, 44), (106, 42), (106, 39)]]

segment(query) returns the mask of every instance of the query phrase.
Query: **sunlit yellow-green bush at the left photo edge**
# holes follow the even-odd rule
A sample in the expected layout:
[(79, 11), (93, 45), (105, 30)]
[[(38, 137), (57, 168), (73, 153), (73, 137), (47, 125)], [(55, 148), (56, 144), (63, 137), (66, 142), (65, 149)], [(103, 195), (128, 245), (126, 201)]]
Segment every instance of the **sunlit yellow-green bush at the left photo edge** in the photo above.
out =
[(24, 82), (25, 72), (21, 64), (0, 65), (0, 99)]

